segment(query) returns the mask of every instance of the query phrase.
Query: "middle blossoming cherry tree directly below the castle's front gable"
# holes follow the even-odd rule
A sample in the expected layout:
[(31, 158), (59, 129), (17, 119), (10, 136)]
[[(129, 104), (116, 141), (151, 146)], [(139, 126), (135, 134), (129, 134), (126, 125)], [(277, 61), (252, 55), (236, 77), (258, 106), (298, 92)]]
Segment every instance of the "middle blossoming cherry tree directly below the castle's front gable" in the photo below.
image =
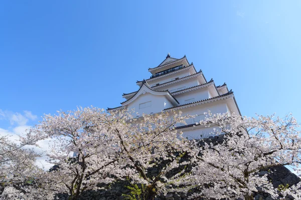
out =
[[(121, 115), (124, 117), (108, 123), (109, 131), (116, 134), (122, 152), (124, 164), (120, 166), (120, 177), (127, 176), (132, 183), (139, 183), (141, 195), (147, 200), (154, 199), (158, 193), (175, 190), (170, 184), (180, 181), (185, 174), (184, 166), (188, 162), (179, 160), (183, 156), (181, 153), (189, 149), (188, 140), (176, 127), (177, 124), (186, 124), (185, 120), (191, 116), (182, 116), (181, 112), (162, 112), (143, 114), (136, 119), (126, 111)], [(151, 173), (152, 169), (156, 172)], [(173, 172), (175, 170), (178, 171)], [(135, 199), (134, 196), (127, 197)]]

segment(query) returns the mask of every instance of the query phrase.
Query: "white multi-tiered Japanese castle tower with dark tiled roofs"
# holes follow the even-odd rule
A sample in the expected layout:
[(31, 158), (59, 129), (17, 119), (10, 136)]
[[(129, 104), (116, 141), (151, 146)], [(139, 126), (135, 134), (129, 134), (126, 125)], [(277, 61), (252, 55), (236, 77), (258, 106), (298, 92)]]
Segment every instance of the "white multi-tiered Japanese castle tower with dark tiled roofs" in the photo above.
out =
[(208, 132), (214, 127), (197, 124), (208, 110), (241, 115), (233, 91), (229, 91), (225, 83), (216, 86), (213, 79), (207, 81), (202, 70), (197, 71), (186, 55), (178, 59), (168, 53), (161, 64), (148, 68), (148, 71), (152, 73), (148, 79), (136, 82), (138, 90), (123, 93), (122, 97), (126, 100), (121, 102), (121, 106), (108, 108), (107, 111), (134, 108), (134, 117), (162, 110), (181, 110), (183, 115), (197, 114), (196, 118), (187, 120), (187, 125), (179, 124), (177, 127), (189, 139), (209, 136)]

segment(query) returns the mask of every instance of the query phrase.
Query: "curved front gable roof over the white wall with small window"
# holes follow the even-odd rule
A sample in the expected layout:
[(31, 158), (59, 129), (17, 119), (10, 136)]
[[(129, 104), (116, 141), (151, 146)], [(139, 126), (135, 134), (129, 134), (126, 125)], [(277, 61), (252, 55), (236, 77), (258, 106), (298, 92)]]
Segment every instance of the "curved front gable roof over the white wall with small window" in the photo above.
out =
[[(146, 89), (146, 90), (142, 90), (142, 89)], [(143, 84), (141, 85), (141, 87), (138, 89), (138, 91), (132, 97), (130, 97), (129, 99), (127, 99), (127, 100), (125, 100), (123, 102), (121, 102), (122, 106), (124, 106), (124, 105), (128, 104), (130, 101), (132, 101), (132, 99), (134, 99), (138, 95), (138, 93), (139, 93), (140, 90), (142, 90), (142, 93), (143, 92), (144, 93), (147, 92), (147, 90), (148, 91), (153, 91), (151, 93), (155, 92), (154, 94), (161, 93), (161, 95), (166, 95), (170, 99), (170, 101), (172, 102), (172, 104), (179, 105), (179, 101), (168, 91), (168, 89), (166, 89), (166, 90), (156, 90), (156, 89), (153, 89), (152, 87), (150, 87), (147, 84), (146, 81), (144, 81)]]

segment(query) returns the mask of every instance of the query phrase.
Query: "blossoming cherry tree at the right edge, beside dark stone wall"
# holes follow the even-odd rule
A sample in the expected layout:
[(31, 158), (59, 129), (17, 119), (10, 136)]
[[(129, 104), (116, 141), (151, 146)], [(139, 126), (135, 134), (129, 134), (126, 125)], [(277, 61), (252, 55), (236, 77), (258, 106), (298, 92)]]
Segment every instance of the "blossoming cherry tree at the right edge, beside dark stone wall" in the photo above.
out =
[[(258, 115), (256, 118), (208, 113), (200, 125), (214, 126), (214, 134), (225, 134), (220, 143), (199, 145), (195, 142), (197, 165), (187, 182), (199, 185), (200, 193), (191, 198), (253, 199), (253, 193), (261, 188), (276, 198), (279, 193), (273, 188), (267, 174), (258, 175), (261, 169), (290, 165), (300, 172), (301, 137), (296, 120)], [(199, 150), (199, 151), (198, 151)], [(272, 171), (271, 171), (272, 172)], [(284, 189), (300, 197), (300, 184)]]

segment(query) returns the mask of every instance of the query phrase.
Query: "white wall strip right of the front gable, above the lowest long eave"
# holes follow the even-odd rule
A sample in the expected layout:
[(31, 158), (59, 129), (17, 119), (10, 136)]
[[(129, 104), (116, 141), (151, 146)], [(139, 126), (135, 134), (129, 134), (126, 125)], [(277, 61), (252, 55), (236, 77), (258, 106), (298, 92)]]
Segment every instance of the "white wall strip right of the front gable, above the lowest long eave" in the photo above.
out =
[(208, 87), (204, 87), (195, 91), (190, 91), (182, 94), (175, 95), (175, 98), (180, 104), (185, 104), (185, 100), (194, 98), (194, 101), (204, 100), (209, 98)]

